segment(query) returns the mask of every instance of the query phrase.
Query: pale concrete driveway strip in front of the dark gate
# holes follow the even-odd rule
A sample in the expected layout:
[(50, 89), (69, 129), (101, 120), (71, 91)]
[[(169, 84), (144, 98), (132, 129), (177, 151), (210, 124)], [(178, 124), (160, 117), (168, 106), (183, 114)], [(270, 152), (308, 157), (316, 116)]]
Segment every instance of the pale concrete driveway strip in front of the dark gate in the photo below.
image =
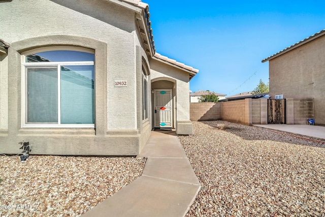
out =
[(302, 136), (309, 136), (325, 139), (325, 127), (313, 125), (253, 125), (278, 131), (294, 133)]

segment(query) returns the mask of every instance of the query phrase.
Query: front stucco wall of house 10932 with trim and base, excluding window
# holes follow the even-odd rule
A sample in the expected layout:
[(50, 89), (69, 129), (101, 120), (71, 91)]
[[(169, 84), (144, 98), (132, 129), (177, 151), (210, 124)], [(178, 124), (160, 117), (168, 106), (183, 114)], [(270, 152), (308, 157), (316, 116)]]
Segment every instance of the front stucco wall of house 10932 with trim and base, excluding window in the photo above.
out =
[[(0, 138), (0, 152), (18, 153), (18, 142), (25, 140), (32, 154), (139, 154), (150, 133), (148, 125), (139, 125), (138, 107), (141, 64), (148, 59), (136, 48), (135, 29), (135, 12), (107, 1), (1, 2), (0, 36), (11, 46), (8, 70), (0, 75), (8, 75), (8, 95), (2, 91), (0, 102), (3, 106), (8, 99), (8, 135)], [(56, 45), (95, 50), (95, 129), (21, 128), (21, 54)], [(126, 80), (128, 86), (114, 87), (114, 80)]]

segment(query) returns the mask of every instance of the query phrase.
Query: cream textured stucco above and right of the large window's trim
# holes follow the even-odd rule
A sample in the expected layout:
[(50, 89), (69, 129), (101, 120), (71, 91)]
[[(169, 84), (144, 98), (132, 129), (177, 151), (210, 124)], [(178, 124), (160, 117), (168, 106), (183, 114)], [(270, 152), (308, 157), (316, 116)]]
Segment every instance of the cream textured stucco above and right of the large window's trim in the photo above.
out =
[[(48, 35), (81, 36), (105, 42), (109, 74), (107, 128), (137, 128), (134, 12), (106, 1), (92, 4), (89, 1), (17, 0), (1, 3), (0, 17), (0, 36), (8, 43)], [(116, 88), (114, 80), (127, 80), (128, 87)]]

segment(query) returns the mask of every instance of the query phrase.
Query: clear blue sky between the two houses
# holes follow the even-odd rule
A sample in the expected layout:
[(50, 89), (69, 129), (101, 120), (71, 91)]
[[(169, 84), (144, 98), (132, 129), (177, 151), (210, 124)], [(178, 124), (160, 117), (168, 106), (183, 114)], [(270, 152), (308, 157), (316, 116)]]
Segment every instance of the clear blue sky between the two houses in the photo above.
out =
[(142, 1), (156, 52), (200, 70), (193, 92), (251, 91), (269, 82), (262, 59), (325, 28), (325, 1)]

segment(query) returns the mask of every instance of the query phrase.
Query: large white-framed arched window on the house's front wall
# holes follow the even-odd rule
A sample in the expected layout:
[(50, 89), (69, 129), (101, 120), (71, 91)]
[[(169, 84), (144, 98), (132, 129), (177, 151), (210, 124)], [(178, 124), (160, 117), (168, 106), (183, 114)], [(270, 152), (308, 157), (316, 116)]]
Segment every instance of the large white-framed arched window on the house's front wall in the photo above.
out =
[(94, 52), (71, 47), (24, 55), (23, 126), (94, 127)]

